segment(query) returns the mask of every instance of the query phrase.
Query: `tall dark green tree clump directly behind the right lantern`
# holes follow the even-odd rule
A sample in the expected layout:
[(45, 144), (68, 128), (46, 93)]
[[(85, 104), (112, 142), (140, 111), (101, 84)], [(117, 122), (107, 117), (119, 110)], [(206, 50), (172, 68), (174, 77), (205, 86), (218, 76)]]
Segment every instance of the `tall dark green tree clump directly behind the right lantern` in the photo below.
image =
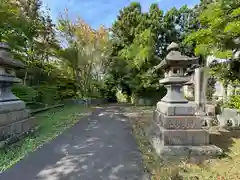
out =
[(153, 67), (166, 56), (166, 47), (172, 41), (180, 42), (188, 33), (191, 13), (183, 6), (164, 15), (156, 3), (146, 13), (139, 3), (119, 12), (111, 29), (114, 58), (109, 60), (107, 74), (123, 94), (141, 97), (164, 92), (159, 91), (158, 82), (163, 73), (153, 71)]

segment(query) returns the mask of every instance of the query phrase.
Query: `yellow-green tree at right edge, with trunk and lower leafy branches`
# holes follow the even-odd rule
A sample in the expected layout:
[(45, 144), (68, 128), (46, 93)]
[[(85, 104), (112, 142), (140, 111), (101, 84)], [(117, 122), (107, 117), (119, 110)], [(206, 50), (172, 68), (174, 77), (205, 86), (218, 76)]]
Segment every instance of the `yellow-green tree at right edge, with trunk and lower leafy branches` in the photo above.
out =
[[(215, 64), (211, 74), (221, 80), (225, 86), (240, 78), (236, 68), (239, 63), (233, 58), (233, 50), (238, 48), (236, 39), (240, 36), (240, 1), (239, 0), (204, 0), (194, 11), (199, 30), (192, 32), (185, 43), (194, 47), (195, 54), (202, 57), (201, 65), (206, 69), (206, 58), (214, 55), (218, 58), (229, 59), (226, 64)], [(238, 65), (237, 65), (238, 64)], [(207, 75), (203, 71), (206, 87)]]

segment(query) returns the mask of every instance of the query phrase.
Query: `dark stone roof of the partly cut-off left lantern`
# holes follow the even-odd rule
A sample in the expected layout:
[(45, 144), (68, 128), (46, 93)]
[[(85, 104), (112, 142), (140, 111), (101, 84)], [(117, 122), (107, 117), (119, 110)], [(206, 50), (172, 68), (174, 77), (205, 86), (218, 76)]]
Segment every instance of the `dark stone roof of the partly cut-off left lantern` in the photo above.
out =
[(25, 67), (21, 61), (12, 58), (10, 48), (5, 43), (0, 43), (0, 65), (16, 69)]

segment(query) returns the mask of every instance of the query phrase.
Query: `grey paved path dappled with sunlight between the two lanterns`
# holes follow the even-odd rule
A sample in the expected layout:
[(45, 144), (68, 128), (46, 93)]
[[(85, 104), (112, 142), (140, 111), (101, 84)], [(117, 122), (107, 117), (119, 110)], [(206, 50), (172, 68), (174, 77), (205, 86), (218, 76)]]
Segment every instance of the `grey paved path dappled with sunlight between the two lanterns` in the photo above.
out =
[(0, 180), (146, 180), (121, 107), (97, 109), (31, 153)]

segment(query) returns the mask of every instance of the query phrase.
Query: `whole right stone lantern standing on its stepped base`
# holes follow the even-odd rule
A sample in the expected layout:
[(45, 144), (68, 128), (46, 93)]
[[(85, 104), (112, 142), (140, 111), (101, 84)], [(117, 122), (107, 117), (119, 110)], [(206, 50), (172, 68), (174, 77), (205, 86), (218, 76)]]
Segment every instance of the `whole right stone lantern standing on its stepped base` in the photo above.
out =
[(160, 83), (167, 88), (167, 94), (157, 103), (154, 111), (150, 138), (159, 155), (216, 155), (222, 150), (209, 144), (209, 133), (202, 128), (196, 115), (196, 104), (188, 102), (182, 87), (189, 79), (185, 69), (198, 61), (180, 53), (179, 46), (171, 43), (167, 57), (159, 64), (165, 70)]

